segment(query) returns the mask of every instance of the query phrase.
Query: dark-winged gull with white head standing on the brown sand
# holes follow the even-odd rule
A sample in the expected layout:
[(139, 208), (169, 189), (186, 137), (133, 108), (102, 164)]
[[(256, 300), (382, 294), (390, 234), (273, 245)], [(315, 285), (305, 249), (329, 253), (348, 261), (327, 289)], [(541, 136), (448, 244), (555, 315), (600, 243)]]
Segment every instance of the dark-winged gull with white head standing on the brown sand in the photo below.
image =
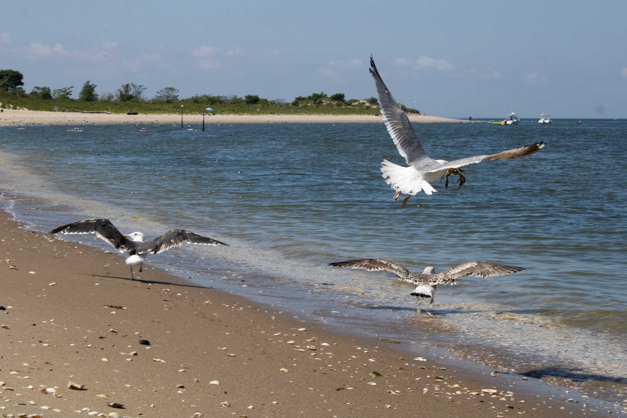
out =
[(113, 248), (125, 253), (126, 263), (130, 265), (130, 280), (133, 277), (133, 266), (139, 264), (139, 272), (147, 253), (159, 254), (167, 249), (181, 246), (183, 243), (199, 245), (226, 245), (216, 239), (185, 231), (184, 229), (171, 229), (162, 236), (144, 243), (144, 234), (136, 232), (122, 235), (108, 219), (83, 219), (63, 225), (50, 231), (51, 234), (96, 234), (98, 238), (107, 241)]

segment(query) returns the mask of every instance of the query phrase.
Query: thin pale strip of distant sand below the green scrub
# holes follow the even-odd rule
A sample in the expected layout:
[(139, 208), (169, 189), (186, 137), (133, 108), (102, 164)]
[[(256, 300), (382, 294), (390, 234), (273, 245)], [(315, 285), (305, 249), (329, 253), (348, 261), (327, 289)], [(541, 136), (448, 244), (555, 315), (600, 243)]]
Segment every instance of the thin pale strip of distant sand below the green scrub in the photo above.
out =
[[(411, 115), (411, 122), (465, 122), (436, 116)], [(184, 123), (203, 123), (202, 115), (183, 115)], [(215, 115), (205, 117), (206, 123), (342, 123), (383, 122), (372, 115)], [(8, 110), (0, 113), (0, 126), (31, 124), (85, 125), (92, 123), (181, 123), (181, 115), (124, 115), (119, 113), (43, 112), (41, 110)]]

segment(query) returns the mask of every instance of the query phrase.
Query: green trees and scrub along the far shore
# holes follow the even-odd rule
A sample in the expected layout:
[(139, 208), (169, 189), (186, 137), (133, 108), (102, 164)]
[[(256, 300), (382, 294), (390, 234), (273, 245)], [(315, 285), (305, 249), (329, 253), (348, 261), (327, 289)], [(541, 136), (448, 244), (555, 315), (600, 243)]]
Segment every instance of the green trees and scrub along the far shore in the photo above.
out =
[[(292, 102), (282, 98), (268, 100), (258, 95), (238, 97), (219, 95), (194, 95), (179, 98), (179, 90), (174, 87), (164, 87), (157, 94), (148, 98), (144, 92), (145, 86), (135, 83), (126, 83), (120, 86), (115, 93), (96, 93), (96, 85), (89, 80), (78, 93), (78, 99), (71, 98), (74, 86), (51, 90), (47, 86), (35, 86), (30, 93), (26, 93), (22, 86), (23, 76), (19, 71), (0, 70), (0, 107), (26, 108), (28, 110), (58, 110), (59, 112), (104, 112), (111, 113), (180, 113), (181, 105), (184, 113), (201, 113), (204, 108), (211, 106), (214, 112), (221, 114), (298, 114), (298, 113), (325, 113), (346, 115), (379, 115), (379, 102), (376, 97), (363, 100), (346, 100), (344, 93), (326, 95), (312, 93), (307, 97), (298, 96)], [(408, 113), (420, 112), (406, 108)]]

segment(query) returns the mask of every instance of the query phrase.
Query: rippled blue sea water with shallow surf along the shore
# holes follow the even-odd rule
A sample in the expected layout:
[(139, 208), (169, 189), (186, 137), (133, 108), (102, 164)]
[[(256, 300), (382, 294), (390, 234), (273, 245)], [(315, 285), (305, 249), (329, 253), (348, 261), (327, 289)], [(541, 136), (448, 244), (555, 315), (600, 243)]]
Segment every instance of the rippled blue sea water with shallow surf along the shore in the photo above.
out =
[[(183, 227), (231, 246), (184, 246), (150, 263), (329, 326), (614, 399), (627, 386), (627, 120), (535, 122), (414, 124), (436, 159), (547, 145), (467, 166), (460, 191), (435, 182), (438, 193), (406, 207), (379, 172), (382, 159), (404, 164), (382, 123), (0, 127), (0, 187), (34, 229), (86, 217), (149, 237)], [(429, 317), (391, 273), (327, 266), (352, 258), (419, 272), (470, 260), (525, 270), (440, 286)]]

